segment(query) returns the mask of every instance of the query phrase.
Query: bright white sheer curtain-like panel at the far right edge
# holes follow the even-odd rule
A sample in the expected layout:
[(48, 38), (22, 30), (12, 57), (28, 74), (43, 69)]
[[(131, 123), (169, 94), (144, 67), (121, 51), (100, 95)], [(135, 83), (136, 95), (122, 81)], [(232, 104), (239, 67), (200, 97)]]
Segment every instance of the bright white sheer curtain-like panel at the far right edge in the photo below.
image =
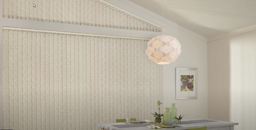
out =
[(256, 128), (256, 31), (230, 40), (230, 121)]

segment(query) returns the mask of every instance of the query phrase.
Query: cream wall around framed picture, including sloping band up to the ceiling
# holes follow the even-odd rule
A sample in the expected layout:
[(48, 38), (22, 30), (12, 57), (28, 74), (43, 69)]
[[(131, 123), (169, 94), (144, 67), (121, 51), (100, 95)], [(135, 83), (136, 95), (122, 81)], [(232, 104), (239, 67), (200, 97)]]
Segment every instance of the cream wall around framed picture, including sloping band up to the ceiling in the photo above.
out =
[[(162, 25), (162, 16), (148, 11), (128, 0), (105, 0), (144, 19)], [(207, 43), (206, 38), (164, 19), (164, 34), (176, 37), (181, 43), (180, 57), (169, 65), (164, 65), (164, 107), (177, 103), (178, 114), (186, 114), (184, 119), (208, 118), (207, 96)], [(198, 99), (175, 100), (175, 68), (198, 68)]]

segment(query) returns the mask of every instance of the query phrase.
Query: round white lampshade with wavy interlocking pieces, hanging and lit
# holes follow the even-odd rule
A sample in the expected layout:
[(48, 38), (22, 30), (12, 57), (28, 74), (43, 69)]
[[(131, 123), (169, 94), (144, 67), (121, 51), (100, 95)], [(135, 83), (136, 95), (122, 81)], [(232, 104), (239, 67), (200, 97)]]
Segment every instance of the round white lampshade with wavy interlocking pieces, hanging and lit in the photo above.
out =
[(169, 35), (155, 36), (148, 41), (146, 53), (148, 58), (157, 64), (170, 64), (180, 56), (181, 45), (175, 37)]

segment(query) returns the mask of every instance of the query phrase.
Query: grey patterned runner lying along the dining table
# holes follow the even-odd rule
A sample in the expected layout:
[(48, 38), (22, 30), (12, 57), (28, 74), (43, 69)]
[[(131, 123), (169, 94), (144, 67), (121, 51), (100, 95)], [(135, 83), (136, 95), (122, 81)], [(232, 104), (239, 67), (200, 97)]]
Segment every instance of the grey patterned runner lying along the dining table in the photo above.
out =
[[(188, 121), (181, 121), (180, 124), (190, 124), (190, 123), (206, 123), (206, 122), (216, 122), (215, 120), (188, 120)], [(138, 124), (125, 124), (125, 125), (113, 125), (114, 127), (117, 128), (132, 128), (132, 127), (146, 127), (150, 125), (156, 125), (156, 123), (138, 123)], [(172, 126), (172, 125), (165, 125), (165, 126)]]

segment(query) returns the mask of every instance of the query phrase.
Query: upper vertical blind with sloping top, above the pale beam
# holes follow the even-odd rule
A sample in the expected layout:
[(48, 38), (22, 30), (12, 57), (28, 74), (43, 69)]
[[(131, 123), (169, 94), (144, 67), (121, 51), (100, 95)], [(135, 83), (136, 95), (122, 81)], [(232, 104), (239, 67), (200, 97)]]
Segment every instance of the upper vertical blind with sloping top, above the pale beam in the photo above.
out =
[(4, 18), (162, 31), (159, 27), (98, 0), (4, 0)]

